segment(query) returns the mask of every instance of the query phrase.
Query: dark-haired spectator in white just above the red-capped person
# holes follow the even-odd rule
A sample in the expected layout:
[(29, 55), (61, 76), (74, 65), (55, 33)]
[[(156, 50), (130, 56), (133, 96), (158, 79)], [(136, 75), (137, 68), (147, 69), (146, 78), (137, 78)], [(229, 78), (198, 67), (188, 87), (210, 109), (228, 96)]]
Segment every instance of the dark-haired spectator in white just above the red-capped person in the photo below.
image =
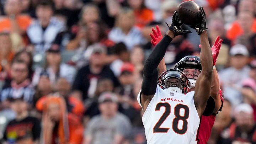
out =
[(119, 76), (121, 74), (121, 66), (124, 62), (129, 61), (129, 52), (123, 42), (117, 43), (112, 49), (118, 58), (111, 63), (110, 68), (115, 76)]

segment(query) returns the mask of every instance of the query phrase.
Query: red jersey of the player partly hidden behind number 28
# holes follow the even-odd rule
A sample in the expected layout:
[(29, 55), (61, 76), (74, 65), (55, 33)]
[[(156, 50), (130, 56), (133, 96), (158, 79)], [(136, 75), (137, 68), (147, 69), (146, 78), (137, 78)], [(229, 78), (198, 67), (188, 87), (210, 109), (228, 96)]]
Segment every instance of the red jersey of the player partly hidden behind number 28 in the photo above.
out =
[[(222, 90), (220, 90), (219, 93), (220, 93), (220, 99), (222, 101), (222, 106), (223, 106), (224, 97), (223, 97)], [(222, 106), (220, 107), (219, 111), (221, 111)], [(212, 127), (215, 121), (215, 117), (216, 117), (216, 114), (211, 114), (210, 116), (202, 115), (201, 123), (197, 131), (196, 144), (207, 144), (207, 141), (210, 137)]]

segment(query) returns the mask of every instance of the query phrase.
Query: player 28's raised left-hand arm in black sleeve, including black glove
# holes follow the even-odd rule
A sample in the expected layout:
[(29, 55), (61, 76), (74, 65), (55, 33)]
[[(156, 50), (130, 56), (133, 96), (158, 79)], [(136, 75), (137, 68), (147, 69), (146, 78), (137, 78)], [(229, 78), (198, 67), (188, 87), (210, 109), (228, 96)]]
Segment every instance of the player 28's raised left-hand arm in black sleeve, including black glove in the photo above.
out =
[(191, 33), (191, 31), (183, 31), (181, 29), (182, 23), (178, 20), (177, 12), (172, 17), (172, 22), (169, 27), (169, 31), (165, 34), (164, 38), (156, 45), (148, 59), (145, 62), (143, 69), (143, 81), (142, 81), (142, 94), (140, 102), (143, 111), (148, 107), (149, 102), (153, 98), (156, 92), (158, 71), (157, 66), (164, 58), (167, 47), (169, 46), (172, 39), (180, 34)]

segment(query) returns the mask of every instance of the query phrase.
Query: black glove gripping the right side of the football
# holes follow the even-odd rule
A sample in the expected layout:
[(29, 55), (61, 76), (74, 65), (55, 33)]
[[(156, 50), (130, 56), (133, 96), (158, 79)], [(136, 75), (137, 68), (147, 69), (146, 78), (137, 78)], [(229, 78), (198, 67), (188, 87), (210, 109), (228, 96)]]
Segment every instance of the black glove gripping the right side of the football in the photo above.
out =
[(203, 10), (203, 7), (199, 8), (199, 13), (200, 13), (200, 16), (201, 16), (201, 20), (198, 23), (198, 25), (190, 26), (191, 28), (196, 30), (198, 35), (200, 35), (204, 30), (207, 29), (207, 27), (206, 27), (206, 16), (205, 16), (205, 12)]

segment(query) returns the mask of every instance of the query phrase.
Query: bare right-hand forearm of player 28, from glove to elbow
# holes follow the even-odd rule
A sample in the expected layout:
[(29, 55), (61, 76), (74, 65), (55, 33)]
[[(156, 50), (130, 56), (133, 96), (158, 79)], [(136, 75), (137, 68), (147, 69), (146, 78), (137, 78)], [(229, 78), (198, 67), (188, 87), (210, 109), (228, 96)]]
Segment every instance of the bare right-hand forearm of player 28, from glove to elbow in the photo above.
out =
[(208, 40), (208, 34), (206, 31), (203, 31), (200, 35), (200, 42), (201, 42), (201, 52), (200, 52), (200, 59), (202, 65), (202, 72), (205, 74), (209, 79), (212, 79), (212, 71), (213, 71), (213, 58), (212, 58), (212, 51), (210, 49), (210, 44)]

